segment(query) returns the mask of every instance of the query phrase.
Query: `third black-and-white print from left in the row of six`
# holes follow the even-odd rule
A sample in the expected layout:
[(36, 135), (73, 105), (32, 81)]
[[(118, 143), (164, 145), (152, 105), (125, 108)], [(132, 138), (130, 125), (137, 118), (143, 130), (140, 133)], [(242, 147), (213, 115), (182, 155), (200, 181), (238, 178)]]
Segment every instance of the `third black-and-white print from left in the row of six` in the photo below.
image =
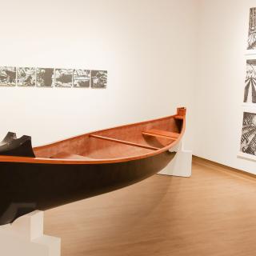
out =
[(54, 69), (37, 68), (37, 86), (52, 87), (54, 86)]

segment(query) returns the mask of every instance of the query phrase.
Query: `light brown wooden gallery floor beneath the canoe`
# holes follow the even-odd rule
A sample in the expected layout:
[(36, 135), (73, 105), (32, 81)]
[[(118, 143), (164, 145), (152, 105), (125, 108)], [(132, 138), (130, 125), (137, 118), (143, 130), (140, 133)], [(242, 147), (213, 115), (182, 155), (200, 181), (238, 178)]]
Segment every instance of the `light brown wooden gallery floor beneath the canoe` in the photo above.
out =
[(45, 217), (62, 256), (250, 256), (256, 178), (195, 158), (191, 178), (154, 175)]

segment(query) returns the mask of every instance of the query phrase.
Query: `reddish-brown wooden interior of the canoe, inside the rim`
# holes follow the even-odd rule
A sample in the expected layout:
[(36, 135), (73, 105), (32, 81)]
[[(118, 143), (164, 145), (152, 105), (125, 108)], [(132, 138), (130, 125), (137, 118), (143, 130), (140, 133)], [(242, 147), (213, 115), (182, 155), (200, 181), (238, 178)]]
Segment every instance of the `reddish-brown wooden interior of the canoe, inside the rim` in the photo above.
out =
[[(179, 135), (182, 131), (182, 124), (183, 119), (176, 115), (176, 117), (170, 116), (149, 122), (120, 126), (39, 146), (34, 148), (34, 154), (37, 158), (84, 160), (137, 157), (149, 154), (152, 150), (162, 149), (174, 142), (178, 136), (176, 138), (175, 135), (172, 135), (173, 137), (165, 136), (165, 132)], [(162, 131), (163, 135), (161, 132), (155, 135), (149, 134), (147, 133), (149, 130)], [(127, 145), (126, 142), (131, 145)]]

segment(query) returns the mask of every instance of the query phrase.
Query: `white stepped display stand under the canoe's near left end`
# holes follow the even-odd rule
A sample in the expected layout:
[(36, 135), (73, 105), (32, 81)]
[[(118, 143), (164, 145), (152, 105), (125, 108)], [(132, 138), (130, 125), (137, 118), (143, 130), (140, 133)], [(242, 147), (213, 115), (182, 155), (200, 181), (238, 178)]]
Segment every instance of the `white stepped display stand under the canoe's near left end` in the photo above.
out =
[(43, 212), (34, 211), (0, 226), (1, 256), (60, 256), (61, 239), (43, 234)]

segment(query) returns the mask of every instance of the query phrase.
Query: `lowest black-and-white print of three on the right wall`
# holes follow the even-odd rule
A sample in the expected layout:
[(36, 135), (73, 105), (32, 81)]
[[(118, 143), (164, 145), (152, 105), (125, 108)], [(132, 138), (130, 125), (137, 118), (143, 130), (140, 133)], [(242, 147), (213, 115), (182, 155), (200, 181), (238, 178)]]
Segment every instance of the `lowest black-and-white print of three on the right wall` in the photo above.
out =
[(240, 150), (256, 155), (256, 113), (244, 112)]

